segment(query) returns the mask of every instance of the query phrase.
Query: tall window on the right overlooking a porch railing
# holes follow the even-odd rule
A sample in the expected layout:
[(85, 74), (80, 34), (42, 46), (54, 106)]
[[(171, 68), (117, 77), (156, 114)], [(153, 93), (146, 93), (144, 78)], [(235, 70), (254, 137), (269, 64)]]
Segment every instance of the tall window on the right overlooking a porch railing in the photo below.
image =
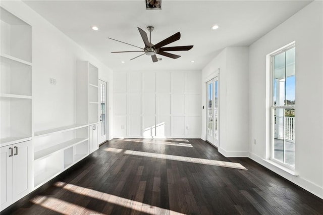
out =
[(271, 55), (271, 158), (295, 167), (295, 43)]

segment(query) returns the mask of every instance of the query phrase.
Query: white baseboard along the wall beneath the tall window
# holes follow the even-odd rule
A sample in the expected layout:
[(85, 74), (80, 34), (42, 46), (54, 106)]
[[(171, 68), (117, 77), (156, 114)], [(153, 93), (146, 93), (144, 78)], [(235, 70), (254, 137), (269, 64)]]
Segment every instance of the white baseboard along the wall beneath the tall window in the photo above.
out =
[(319, 198), (323, 199), (323, 187), (320, 187), (319, 185), (316, 185), (301, 176), (293, 175), (289, 173), (288, 171), (285, 171), (276, 165), (271, 164), (270, 162), (266, 162), (263, 158), (260, 156), (249, 153), (249, 158), (257, 162), (258, 164), (264, 166), (265, 168), (277, 173), (278, 175), (286, 178), (287, 180), (293, 182), (294, 184), (300, 186), (301, 188), (307, 190), (308, 192), (318, 196)]

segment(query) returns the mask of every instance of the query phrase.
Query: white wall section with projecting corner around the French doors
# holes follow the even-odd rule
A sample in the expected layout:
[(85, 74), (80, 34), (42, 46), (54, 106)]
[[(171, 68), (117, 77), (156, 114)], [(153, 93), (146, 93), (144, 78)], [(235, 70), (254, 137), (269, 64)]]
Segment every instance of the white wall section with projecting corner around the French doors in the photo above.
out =
[[(220, 69), (220, 70), (218, 70)], [(207, 106), (206, 82), (219, 73), (219, 152), (248, 156), (248, 48), (228, 47), (202, 70), (202, 105)], [(202, 112), (202, 139), (206, 139), (206, 108)]]

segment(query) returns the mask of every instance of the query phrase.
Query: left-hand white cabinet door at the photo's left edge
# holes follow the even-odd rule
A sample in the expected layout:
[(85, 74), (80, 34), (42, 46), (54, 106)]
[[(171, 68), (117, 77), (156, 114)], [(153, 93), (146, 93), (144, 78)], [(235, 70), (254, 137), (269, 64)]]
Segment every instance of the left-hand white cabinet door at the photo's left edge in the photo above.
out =
[(12, 203), (12, 156), (12, 145), (0, 148), (0, 211)]

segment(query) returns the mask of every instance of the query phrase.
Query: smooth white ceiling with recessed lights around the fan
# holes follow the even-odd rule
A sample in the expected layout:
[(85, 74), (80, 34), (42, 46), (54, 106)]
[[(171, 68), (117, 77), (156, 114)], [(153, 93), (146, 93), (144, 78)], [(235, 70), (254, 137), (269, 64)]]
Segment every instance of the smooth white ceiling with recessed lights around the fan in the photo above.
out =
[[(162, 10), (154, 11), (146, 10), (145, 0), (24, 2), (113, 70), (201, 70), (223, 48), (252, 44), (311, 1), (163, 0)], [(214, 24), (220, 28), (211, 30)], [(111, 53), (138, 49), (107, 37), (144, 47), (137, 27), (147, 26), (155, 28), (154, 44), (180, 31), (181, 39), (167, 46), (194, 47), (173, 51), (182, 56), (175, 60), (157, 55), (162, 60), (156, 63), (146, 55), (129, 61), (140, 52)]]

